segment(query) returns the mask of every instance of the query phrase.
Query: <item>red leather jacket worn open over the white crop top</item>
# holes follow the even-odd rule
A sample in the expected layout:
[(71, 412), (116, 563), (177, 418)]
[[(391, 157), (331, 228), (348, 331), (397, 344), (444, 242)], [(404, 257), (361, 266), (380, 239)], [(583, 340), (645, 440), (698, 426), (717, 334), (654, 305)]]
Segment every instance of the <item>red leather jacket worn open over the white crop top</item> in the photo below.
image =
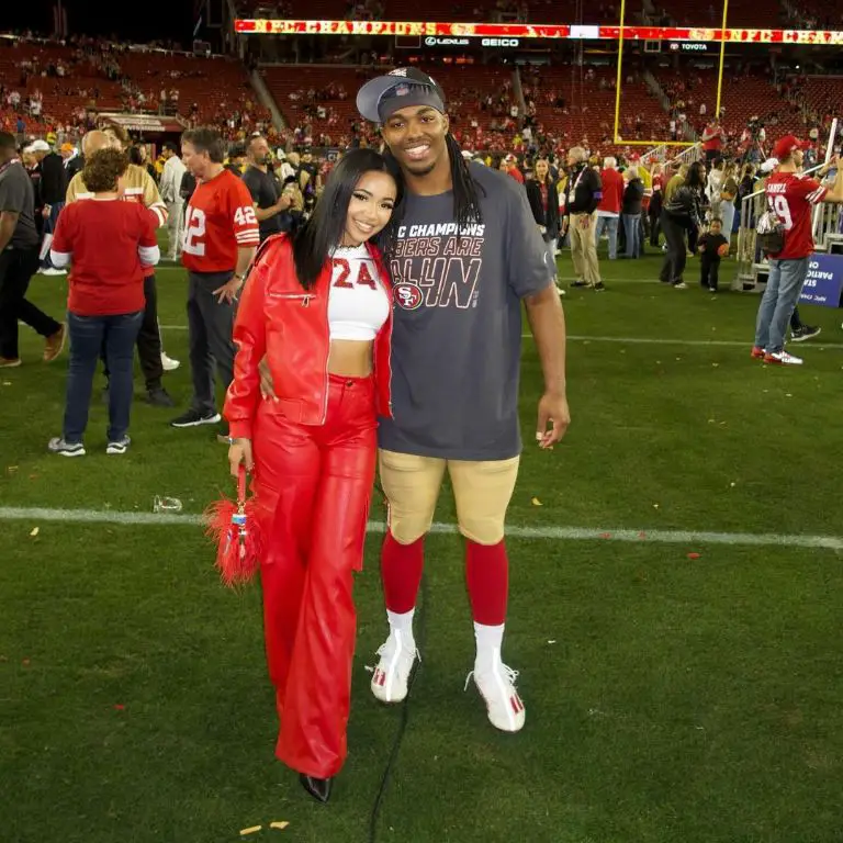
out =
[[(390, 297), (390, 316), (374, 338), (376, 412), (392, 415), (390, 401), (390, 348), (392, 340), (392, 284), (380, 252), (369, 246)], [(292, 244), (286, 235), (270, 237), (258, 249), (244, 286), (234, 342), (234, 380), (225, 398), (224, 414), (231, 436), (251, 438), (260, 396), (258, 364), (267, 357), (278, 402), (268, 402), (302, 425), (323, 425), (328, 406), (328, 295), (330, 263), (311, 290), (299, 283)]]

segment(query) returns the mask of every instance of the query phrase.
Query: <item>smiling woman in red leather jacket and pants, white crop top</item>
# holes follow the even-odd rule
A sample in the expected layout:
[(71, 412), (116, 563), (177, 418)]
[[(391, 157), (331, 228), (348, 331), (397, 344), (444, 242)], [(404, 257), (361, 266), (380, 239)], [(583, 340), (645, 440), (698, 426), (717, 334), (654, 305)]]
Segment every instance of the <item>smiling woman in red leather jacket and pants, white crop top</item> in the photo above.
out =
[[(372, 149), (342, 156), (313, 216), (269, 238), (240, 301), (225, 417), (232, 473), (254, 469), (276, 755), (326, 802), (346, 758), (356, 617), (374, 482), (376, 416), (390, 414), (392, 292), (368, 240), (400, 183)], [(266, 357), (276, 401), (261, 401)]]

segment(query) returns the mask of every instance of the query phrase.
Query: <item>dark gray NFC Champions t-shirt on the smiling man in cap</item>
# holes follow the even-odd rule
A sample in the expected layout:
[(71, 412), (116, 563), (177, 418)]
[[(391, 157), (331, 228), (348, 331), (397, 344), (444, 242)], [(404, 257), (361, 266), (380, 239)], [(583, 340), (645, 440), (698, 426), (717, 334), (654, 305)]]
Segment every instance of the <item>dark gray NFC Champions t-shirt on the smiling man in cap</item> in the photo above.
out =
[(554, 257), (515, 179), (470, 164), (483, 222), (457, 241), (452, 192), (408, 194), (391, 261), (394, 418), (381, 448), (456, 460), (520, 453), (521, 299), (553, 283)]

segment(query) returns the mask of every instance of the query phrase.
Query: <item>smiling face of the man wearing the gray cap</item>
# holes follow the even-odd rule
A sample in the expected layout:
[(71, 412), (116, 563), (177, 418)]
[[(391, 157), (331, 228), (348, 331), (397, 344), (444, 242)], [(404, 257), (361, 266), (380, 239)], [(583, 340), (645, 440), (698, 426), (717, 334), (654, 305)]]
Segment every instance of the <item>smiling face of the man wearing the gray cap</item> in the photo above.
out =
[(447, 114), (430, 105), (409, 105), (387, 117), (381, 131), (402, 170), (427, 176), (437, 165), (448, 166), (448, 126)]

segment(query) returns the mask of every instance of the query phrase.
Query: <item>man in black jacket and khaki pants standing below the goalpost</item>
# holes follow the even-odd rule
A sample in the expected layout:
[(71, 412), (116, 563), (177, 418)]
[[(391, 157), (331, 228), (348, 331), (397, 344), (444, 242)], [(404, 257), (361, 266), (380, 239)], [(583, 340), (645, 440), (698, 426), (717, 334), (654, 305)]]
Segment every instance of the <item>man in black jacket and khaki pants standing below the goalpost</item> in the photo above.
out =
[(597, 263), (594, 212), (603, 199), (603, 183), (599, 173), (588, 166), (587, 154), (582, 146), (567, 150), (567, 166), (570, 173), (565, 186), (562, 233), (571, 234), (571, 259), (576, 273), (576, 281), (571, 286), (591, 286), (602, 292), (606, 288)]

